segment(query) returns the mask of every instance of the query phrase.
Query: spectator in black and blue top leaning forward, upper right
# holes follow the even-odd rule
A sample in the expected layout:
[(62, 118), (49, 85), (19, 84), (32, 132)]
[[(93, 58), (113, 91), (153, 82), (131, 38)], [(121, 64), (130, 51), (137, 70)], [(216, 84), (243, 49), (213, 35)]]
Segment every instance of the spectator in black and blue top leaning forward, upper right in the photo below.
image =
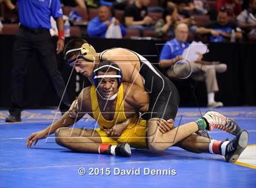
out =
[(208, 34), (211, 42), (227, 42), (232, 38), (232, 31), (235, 39), (241, 39), (242, 33), (238, 25), (230, 21), (227, 9), (222, 8), (218, 12), (217, 21), (212, 21), (205, 27), (199, 27), (196, 33)]

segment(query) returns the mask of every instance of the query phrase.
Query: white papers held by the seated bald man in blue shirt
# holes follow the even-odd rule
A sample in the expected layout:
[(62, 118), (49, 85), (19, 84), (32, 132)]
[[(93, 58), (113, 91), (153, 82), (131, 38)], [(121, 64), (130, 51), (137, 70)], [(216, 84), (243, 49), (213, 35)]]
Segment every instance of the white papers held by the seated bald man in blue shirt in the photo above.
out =
[(205, 45), (204, 43), (200, 42), (195, 42), (193, 41), (188, 47), (187, 49), (185, 49), (182, 53), (182, 58), (186, 59), (188, 61), (196, 61), (198, 59), (198, 54), (205, 54), (208, 53), (209, 50), (207, 48), (207, 45)]

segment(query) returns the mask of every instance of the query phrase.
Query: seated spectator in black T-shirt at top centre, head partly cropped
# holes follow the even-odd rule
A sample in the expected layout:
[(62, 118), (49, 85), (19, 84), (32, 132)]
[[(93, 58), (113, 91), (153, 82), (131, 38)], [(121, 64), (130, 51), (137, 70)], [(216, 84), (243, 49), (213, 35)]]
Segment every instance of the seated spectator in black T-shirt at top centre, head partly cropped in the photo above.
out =
[(124, 10), (124, 23), (129, 29), (155, 29), (154, 22), (148, 16), (149, 0), (135, 0)]

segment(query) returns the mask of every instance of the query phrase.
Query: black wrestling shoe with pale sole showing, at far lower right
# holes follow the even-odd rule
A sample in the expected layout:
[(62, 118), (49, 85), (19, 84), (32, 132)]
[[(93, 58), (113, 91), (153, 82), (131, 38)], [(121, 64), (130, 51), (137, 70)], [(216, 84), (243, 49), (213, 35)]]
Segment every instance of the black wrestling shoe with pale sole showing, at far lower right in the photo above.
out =
[(235, 163), (248, 144), (249, 135), (246, 130), (242, 130), (232, 141), (227, 144), (225, 159), (227, 162)]

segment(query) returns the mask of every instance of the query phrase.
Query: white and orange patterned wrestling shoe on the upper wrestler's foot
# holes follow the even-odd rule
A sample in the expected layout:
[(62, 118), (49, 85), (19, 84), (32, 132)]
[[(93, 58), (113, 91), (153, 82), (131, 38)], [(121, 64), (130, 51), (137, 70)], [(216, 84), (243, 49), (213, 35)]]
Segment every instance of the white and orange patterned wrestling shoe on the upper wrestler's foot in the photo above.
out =
[(208, 130), (221, 129), (232, 135), (237, 136), (242, 130), (233, 119), (227, 118), (218, 112), (210, 111), (205, 113), (203, 118), (206, 120)]

